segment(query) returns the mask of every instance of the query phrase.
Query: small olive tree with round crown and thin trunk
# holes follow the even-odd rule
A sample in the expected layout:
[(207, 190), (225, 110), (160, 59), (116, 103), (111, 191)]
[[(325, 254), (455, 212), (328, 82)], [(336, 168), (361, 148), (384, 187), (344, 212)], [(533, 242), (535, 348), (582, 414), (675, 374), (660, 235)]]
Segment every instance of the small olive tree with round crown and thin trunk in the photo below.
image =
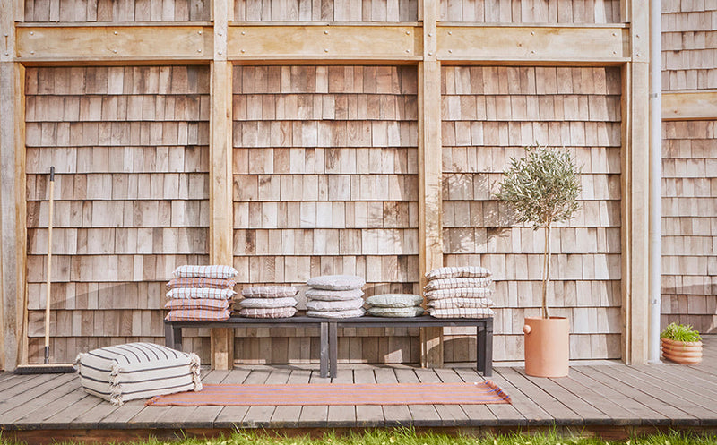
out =
[(545, 231), (542, 276), (542, 316), (549, 318), (550, 229), (554, 223), (573, 218), (580, 207), (581, 170), (567, 150), (536, 144), (525, 149), (525, 157), (511, 158), (503, 172), (497, 198), (513, 205), (518, 221)]

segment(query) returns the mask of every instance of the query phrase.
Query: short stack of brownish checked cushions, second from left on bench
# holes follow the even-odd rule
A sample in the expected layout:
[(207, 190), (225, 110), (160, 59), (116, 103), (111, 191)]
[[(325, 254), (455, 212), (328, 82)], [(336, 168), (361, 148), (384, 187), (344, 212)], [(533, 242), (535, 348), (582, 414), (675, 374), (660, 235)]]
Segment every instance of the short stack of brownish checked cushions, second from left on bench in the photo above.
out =
[(287, 318), (297, 313), (296, 295), (292, 286), (256, 286), (241, 291), (239, 315), (248, 318)]

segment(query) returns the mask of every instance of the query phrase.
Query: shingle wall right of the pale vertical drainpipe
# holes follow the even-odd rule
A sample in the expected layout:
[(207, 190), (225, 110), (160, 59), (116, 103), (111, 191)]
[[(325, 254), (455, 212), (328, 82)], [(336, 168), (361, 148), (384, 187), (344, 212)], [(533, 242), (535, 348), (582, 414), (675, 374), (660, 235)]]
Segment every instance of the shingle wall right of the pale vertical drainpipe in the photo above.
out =
[[(713, 104), (717, 89), (716, 23), (715, 2), (662, 2), (662, 90), (677, 104), (701, 103), (693, 112)], [(676, 119), (674, 111), (663, 116)], [(717, 116), (710, 112), (662, 124), (662, 327), (675, 321), (717, 332)]]

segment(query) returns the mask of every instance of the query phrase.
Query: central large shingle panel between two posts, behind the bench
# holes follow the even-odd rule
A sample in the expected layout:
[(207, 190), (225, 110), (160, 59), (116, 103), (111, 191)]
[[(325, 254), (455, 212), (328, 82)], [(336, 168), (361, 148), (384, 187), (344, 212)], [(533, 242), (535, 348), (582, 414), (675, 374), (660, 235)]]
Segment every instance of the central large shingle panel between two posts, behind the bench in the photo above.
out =
[[(308, 278), (351, 274), (366, 278), (366, 295), (418, 293), (416, 75), (410, 66), (234, 68), (238, 290), (295, 285), (303, 307)], [(347, 329), (339, 358), (416, 363), (413, 330)], [(306, 362), (318, 357), (317, 334), (238, 329), (235, 356)]]

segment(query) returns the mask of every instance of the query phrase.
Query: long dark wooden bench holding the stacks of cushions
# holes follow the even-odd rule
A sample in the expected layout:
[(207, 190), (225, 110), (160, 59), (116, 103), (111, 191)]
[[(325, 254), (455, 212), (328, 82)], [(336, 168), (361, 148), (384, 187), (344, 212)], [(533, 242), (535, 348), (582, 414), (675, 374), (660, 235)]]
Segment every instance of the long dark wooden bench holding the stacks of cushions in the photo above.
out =
[(339, 328), (426, 328), (426, 327), (475, 327), (476, 368), (486, 377), (493, 370), (493, 319), (438, 319), (430, 315), (410, 318), (358, 317), (350, 319), (326, 319), (297, 315), (283, 319), (253, 319), (232, 317), (225, 321), (164, 321), (165, 344), (182, 350), (182, 328), (319, 328), (321, 348), (319, 370), (322, 377), (338, 374)]

